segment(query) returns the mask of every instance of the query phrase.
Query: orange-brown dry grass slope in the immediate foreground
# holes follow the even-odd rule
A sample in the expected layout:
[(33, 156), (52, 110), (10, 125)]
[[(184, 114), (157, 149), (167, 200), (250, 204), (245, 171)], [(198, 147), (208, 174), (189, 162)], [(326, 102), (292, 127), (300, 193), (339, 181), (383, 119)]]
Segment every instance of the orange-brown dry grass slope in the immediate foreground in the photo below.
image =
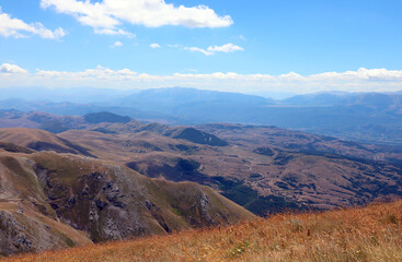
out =
[(402, 261), (402, 201), (312, 214), (283, 214), (8, 261)]

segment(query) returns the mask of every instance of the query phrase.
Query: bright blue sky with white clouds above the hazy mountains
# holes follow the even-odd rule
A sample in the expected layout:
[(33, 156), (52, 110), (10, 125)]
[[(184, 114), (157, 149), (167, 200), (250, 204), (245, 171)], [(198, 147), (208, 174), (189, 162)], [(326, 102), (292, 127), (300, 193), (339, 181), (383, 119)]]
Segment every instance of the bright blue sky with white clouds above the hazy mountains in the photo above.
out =
[(0, 0), (0, 88), (402, 90), (400, 0)]

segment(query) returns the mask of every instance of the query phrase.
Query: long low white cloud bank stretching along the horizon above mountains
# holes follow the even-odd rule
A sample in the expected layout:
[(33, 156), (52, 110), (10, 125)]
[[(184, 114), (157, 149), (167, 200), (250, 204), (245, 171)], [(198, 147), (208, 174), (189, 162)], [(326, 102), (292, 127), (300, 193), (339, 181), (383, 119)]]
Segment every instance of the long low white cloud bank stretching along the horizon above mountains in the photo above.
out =
[(10, 86), (92, 86), (126, 90), (188, 86), (242, 93), (280, 91), (299, 94), (320, 91), (393, 92), (402, 90), (402, 70), (360, 68), (357, 71), (311, 75), (295, 72), (280, 75), (233, 72), (152, 75), (129, 69), (112, 70), (103, 67), (80, 72), (46, 70), (28, 72), (16, 64), (3, 63), (0, 66), (0, 87)]

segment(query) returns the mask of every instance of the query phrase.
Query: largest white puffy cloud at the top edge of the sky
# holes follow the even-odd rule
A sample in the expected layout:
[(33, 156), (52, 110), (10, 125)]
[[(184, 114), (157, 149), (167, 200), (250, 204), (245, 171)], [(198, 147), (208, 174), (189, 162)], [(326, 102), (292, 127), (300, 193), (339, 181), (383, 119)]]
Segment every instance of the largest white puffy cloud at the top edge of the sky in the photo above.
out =
[(182, 25), (186, 27), (225, 27), (233, 21), (229, 15), (219, 16), (206, 5), (187, 8), (165, 3), (164, 0), (41, 0), (43, 9), (54, 8), (59, 13), (73, 16), (95, 32), (116, 29), (122, 23), (159, 27)]

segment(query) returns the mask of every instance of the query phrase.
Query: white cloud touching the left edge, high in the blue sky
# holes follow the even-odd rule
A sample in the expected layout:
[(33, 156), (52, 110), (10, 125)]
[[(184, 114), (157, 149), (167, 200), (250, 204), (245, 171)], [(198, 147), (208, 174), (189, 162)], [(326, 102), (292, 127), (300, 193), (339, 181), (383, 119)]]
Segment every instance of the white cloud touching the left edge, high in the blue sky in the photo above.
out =
[(59, 27), (54, 32), (47, 29), (42, 23), (36, 22), (27, 24), (22, 20), (11, 17), (10, 14), (3, 13), (0, 7), (0, 35), (4, 37), (22, 38), (30, 34), (38, 35), (42, 38), (58, 39), (66, 35), (65, 31)]

